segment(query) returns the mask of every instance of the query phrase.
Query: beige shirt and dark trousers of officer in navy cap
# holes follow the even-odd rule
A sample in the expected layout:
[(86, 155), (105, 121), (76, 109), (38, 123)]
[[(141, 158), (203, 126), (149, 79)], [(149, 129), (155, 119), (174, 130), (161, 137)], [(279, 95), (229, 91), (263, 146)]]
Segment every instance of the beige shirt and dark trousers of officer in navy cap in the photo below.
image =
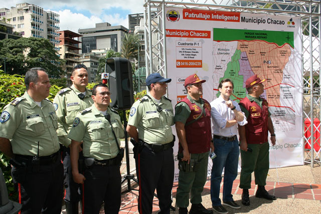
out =
[[(156, 100), (150, 94), (147, 95), (149, 97), (144, 96), (132, 105), (128, 118), (128, 125), (135, 126), (138, 129), (138, 138), (145, 142), (135, 159), (139, 179), (138, 210), (140, 213), (152, 212), (153, 193), (156, 188), (161, 212), (169, 213), (174, 180), (174, 142), (171, 143), (173, 107), (171, 101), (164, 96), (160, 103), (156, 104)], [(166, 147), (155, 152), (153, 146), (156, 144)]]

